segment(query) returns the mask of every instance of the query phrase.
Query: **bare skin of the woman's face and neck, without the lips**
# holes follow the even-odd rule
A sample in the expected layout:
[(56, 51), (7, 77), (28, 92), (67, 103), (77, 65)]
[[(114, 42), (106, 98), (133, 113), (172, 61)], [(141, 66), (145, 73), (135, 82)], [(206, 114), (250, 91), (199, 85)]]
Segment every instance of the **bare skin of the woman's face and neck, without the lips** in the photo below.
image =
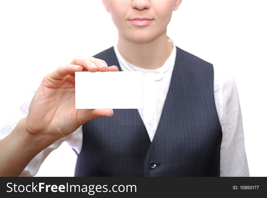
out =
[[(181, 0), (102, 0), (118, 29), (118, 50), (131, 64), (141, 68), (161, 67), (172, 51), (167, 41), (167, 25)], [(138, 27), (133, 18), (149, 18), (152, 22)]]

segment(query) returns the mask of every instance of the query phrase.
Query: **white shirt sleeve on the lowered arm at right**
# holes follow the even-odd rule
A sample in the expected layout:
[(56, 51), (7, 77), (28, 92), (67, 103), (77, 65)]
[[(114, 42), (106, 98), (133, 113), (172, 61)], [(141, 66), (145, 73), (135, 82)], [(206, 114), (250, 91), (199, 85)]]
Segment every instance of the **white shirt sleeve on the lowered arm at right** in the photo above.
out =
[(220, 176), (249, 177), (236, 83), (219, 67), (214, 67), (214, 97), (222, 130)]

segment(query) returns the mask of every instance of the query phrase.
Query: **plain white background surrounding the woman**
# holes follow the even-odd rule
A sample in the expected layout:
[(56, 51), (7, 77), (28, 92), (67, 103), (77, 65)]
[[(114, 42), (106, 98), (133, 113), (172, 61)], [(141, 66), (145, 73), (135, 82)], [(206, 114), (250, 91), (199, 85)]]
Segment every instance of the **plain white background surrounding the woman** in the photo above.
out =
[[(167, 29), (176, 46), (225, 68), (235, 79), (250, 176), (265, 177), (266, 7), (263, 0), (184, 0)], [(0, 128), (46, 74), (117, 39), (100, 0), (1, 0), (0, 18)], [(76, 154), (63, 143), (36, 176), (73, 176), (75, 163)]]

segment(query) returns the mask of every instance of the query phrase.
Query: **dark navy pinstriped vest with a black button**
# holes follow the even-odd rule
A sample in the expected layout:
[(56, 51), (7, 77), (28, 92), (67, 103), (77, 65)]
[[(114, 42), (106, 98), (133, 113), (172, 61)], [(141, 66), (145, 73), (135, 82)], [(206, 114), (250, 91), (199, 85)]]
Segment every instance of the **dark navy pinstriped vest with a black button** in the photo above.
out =
[[(150, 143), (137, 109), (113, 109), (113, 116), (83, 125), (76, 177), (220, 176), (222, 132), (215, 107), (213, 66), (176, 48), (171, 83), (153, 141)], [(93, 57), (121, 71), (113, 47)], [(114, 87), (119, 89), (120, 84)]]

